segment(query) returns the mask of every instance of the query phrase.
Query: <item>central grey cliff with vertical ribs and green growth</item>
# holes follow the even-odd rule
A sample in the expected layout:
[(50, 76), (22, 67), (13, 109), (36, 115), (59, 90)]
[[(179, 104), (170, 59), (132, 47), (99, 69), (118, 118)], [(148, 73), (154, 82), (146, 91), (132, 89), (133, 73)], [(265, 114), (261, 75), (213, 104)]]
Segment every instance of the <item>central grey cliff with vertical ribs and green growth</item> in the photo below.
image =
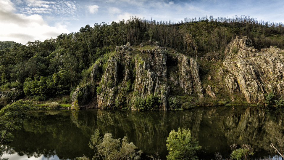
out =
[[(156, 45), (156, 44), (155, 44)], [(183, 89), (183, 94), (196, 93), (203, 98), (199, 65), (193, 58), (179, 53), (168, 57), (167, 49), (159, 46), (151, 49), (133, 49), (130, 44), (117, 46), (103, 74), (102, 62), (93, 65), (90, 82), (78, 87), (72, 95), (72, 106), (94, 101), (97, 108), (135, 108), (136, 98), (146, 99), (148, 95), (159, 97), (159, 110), (167, 110), (169, 83)], [(135, 54), (134, 54), (135, 53)], [(177, 71), (168, 73), (168, 67)], [(101, 81), (98, 75), (102, 75)], [(98, 85), (99, 84), (99, 85)]]

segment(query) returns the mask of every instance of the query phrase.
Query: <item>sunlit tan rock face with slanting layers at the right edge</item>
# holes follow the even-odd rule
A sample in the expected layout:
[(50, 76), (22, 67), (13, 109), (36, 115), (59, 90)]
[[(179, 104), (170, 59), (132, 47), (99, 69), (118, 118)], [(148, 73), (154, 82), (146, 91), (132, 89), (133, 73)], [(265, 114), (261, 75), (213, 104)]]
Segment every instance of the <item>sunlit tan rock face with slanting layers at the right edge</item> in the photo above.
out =
[(249, 38), (237, 36), (225, 50), (223, 65), (229, 72), (222, 73), (225, 85), (231, 93), (243, 93), (249, 103), (264, 102), (271, 91), (284, 96), (283, 53), (273, 46), (259, 52)]

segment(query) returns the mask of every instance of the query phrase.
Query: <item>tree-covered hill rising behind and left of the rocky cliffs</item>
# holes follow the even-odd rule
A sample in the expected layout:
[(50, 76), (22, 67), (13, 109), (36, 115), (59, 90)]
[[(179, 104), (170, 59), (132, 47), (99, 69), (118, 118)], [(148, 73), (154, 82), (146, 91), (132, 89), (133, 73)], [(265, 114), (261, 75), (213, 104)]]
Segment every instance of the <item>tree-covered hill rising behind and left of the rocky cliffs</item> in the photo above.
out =
[[(90, 78), (93, 65), (101, 63), (104, 72), (116, 46), (133, 46), (157, 41), (188, 57), (218, 55), (236, 36), (248, 36), (255, 48), (277, 46), (284, 49), (284, 27), (280, 23), (258, 22), (249, 17), (202, 17), (185, 22), (158, 22), (133, 17), (119, 22), (86, 25), (80, 31), (61, 34), (56, 39), (28, 42), (0, 50), (2, 91), (23, 89), (35, 100), (69, 95)], [(202, 68), (201, 78), (208, 72)], [(101, 76), (101, 75), (100, 75)], [(98, 76), (99, 77), (99, 76)]]

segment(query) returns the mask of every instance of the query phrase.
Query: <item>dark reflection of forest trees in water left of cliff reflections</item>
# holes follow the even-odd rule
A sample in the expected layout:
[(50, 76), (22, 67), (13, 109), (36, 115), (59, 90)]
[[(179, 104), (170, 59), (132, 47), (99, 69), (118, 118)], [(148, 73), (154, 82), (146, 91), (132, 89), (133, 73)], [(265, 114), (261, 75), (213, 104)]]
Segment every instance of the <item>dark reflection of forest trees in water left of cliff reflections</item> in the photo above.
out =
[[(16, 146), (19, 155), (51, 157), (57, 155), (60, 159), (74, 159), (83, 156), (82, 151), (90, 153), (89, 136), (84, 137), (82, 130), (72, 122), (71, 113), (62, 111), (56, 115), (46, 115), (45, 112), (34, 113), (23, 123), (23, 130), (17, 132), (11, 146)], [(81, 150), (78, 150), (80, 148)]]

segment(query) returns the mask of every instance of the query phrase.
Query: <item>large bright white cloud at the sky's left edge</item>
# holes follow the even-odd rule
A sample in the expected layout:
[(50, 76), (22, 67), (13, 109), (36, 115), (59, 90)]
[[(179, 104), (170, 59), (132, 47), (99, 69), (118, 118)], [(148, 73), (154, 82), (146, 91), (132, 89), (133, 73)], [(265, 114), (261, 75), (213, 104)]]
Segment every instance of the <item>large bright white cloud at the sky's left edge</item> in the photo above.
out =
[[(28, 41), (44, 41), (57, 38), (61, 33), (70, 33), (66, 25), (49, 26), (41, 15), (14, 13), (15, 9), (10, 0), (0, 1), (0, 41), (16, 41), (26, 44)], [(44, 9), (38, 9), (44, 12)]]

